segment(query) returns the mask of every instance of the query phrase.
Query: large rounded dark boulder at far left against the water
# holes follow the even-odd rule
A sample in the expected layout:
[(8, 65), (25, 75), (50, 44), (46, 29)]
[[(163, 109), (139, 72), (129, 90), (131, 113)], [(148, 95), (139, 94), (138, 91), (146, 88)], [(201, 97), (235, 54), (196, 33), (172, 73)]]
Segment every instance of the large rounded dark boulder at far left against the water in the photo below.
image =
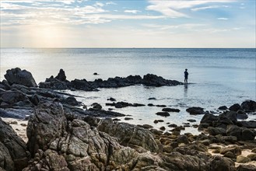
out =
[(20, 84), (27, 87), (37, 87), (36, 81), (30, 72), (20, 68), (12, 68), (6, 71), (5, 79), (12, 84)]

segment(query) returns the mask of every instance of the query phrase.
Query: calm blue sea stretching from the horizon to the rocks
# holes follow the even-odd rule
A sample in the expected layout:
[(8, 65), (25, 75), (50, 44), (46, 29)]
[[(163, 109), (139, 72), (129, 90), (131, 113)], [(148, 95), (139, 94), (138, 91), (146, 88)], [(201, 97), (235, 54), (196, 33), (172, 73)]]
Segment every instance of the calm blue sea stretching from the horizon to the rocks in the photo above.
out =
[[(1, 48), (0, 79), (6, 70), (19, 67), (31, 72), (37, 83), (62, 68), (69, 81), (73, 79), (108, 79), (115, 76), (154, 74), (164, 79), (184, 82), (188, 69), (188, 85), (181, 86), (128, 86), (100, 89), (97, 92), (69, 91), (88, 108), (100, 103), (108, 110), (110, 97), (117, 101), (142, 103), (146, 106), (128, 106), (113, 111), (124, 113), (130, 124), (149, 124), (160, 129), (168, 124), (184, 125), (195, 120), (184, 132), (198, 134), (193, 124), (199, 124), (203, 115), (190, 115), (186, 109), (200, 106), (218, 114), (219, 106), (231, 106), (244, 100), (256, 101), (256, 49), (255, 48)], [(93, 73), (98, 75), (93, 75)], [(149, 99), (155, 98), (155, 99)], [(181, 110), (170, 117), (156, 115), (166, 105)], [(163, 120), (154, 124), (154, 120)], [(251, 113), (247, 120), (256, 120)]]

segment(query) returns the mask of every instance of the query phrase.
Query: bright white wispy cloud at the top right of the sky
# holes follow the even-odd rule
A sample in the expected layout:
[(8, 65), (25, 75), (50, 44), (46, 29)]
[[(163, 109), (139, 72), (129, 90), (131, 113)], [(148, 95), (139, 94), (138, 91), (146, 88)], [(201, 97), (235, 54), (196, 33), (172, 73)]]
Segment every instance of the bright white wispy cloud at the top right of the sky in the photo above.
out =
[[(178, 18), (178, 17), (188, 17), (188, 15), (184, 14), (183, 12), (179, 12), (181, 9), (191, 9), (199, 5), (205, 5), (209, 3), (223, 3), (223, 2), (234, 2), (233, 0), (191, 0), (191, 1), (154, 1), (149, 0), (149, 3), (151, 5), (148, 5), (146, 7), (147, 10), (153, 10), (156, 12), (160, 12), (165, 16), (168, 16), (170, 18)], [(216, 5), (208, 6), (208, 7), (198, 7), (195, 8), (196, 10), (202, 10), (202, 9), (209, 9), (209, 8), (216, 8)], [(191, 9), (193, 10), (193, 9)]]

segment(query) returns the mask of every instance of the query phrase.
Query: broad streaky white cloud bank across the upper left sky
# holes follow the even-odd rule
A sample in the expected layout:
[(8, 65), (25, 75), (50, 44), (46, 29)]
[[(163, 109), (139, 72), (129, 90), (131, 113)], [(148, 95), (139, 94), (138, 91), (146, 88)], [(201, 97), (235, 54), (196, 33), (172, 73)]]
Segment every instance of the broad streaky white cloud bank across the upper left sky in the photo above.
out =
[[(13, 1), (18, 2), (18, 1)], [(1, 26), (21, 26), (21, 25), (84, 25), (109, 23), (114, 19), (163, 19), (165, 16), (144, 16), (144, 15), (113, 15), (103, 9), (103, 4), (96, 2), (93, 5), (68, 5), (65, 4), (33, 2), (31, 4), (2, 2), (1, 4)], [(26, 1), (29, 2), (29, 1)], [(32, 2), (32, 1), (30, 1)], [(52, 2), (47, 0), (47, 2)], [(58, 0), (58, 2), (63, 2)], [(112, 3), (111, 3), (112, 4)], [(136, 13), (136, 10), (126, 12)]]

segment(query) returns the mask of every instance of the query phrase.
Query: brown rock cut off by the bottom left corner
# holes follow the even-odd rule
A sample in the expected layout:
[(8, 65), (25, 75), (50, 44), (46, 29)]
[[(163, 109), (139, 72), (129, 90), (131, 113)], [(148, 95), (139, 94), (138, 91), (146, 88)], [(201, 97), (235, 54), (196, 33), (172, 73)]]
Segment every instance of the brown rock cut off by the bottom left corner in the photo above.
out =
[(29, 159), (26, 143), (0, 118), (0, 168), (22, 170)]

